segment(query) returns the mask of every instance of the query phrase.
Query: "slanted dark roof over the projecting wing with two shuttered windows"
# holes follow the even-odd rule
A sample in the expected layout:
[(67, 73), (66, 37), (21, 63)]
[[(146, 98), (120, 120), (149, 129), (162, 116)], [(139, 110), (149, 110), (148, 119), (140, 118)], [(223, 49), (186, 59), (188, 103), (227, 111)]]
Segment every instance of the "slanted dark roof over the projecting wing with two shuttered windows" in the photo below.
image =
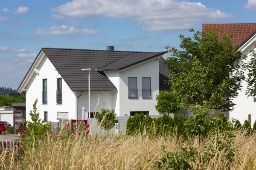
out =
[(98, 71), (109, 71), (109, 70), (122, 70), (131, 65), (135, 65), (137, 63), (143, 62), (145, 60), (157, 57), (159, 55), (163, 55), (167, 53), (167, 51), (161, 52), (152, 52), (152, 53), (139, 53), (139, 54), (129, 54), (123, 58), (120, 58), (114, 62), (111, 62), (108, 65), (105, 65), (102, 68), (99, 68)]

